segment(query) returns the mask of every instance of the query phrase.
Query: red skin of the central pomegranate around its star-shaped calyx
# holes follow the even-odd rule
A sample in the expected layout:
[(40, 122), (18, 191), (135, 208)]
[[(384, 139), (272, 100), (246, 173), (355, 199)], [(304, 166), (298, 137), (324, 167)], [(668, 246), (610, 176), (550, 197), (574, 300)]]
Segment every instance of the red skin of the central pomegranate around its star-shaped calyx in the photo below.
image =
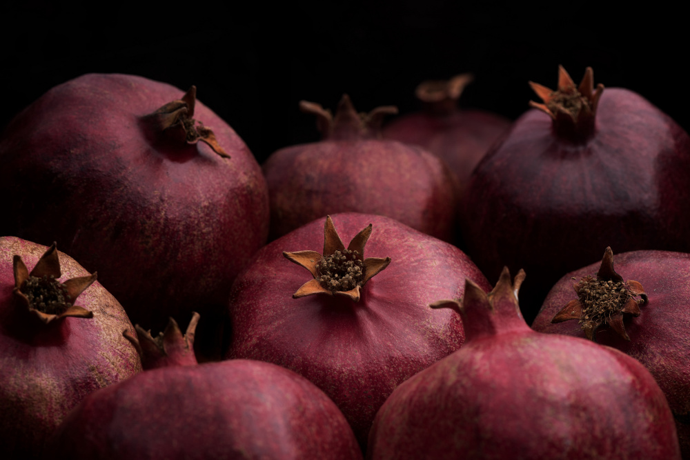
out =
[(388, 217), (331, 217), (345, 244), (371, 223), (364, 257), (391, 257), (390, 265), (364, 285), (357, 303), (326, 294), (293, 299), (312, 275), (282, 251), (322, 253), (325, 219), (269, 243), (233, 286), (228, 357), (272, 362), (313, 381), (366, 448), (376, 411), (393, 389), (462, 345), (460, 318), (428, 303), (462, 296), (465, 277), (490, 286), (449, 243)]

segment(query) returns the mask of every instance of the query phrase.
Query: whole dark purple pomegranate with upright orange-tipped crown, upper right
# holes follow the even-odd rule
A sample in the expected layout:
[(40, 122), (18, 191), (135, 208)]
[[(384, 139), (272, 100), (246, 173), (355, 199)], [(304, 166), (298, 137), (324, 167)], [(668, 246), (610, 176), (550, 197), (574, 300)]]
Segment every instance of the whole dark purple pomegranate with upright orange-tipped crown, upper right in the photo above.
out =
[(536, 316), (565, 273), (620, 251), (690, 251), (690, 137), (635, 92), (531, 83), (543, 104), (515, 121), (472, 174), (461, 203), (466, 250), (489, 279), (523, 268)]

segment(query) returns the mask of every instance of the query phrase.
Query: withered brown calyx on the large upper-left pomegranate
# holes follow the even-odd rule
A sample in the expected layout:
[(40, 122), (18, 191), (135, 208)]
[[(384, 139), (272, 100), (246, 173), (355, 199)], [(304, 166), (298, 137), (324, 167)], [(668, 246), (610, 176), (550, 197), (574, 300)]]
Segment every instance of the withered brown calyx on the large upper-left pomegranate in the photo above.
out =
[(182, 99), (166, 103), (152, 114), (146, 115), (144, 119), (170, 139), (189, 144), (204, 141), (221, 157), (230, 158), (230, 155), (219, 146), (213, 131), (206, 128), (201, 121), (193, 119), (196, 101), (197, 87), (192, 86)]

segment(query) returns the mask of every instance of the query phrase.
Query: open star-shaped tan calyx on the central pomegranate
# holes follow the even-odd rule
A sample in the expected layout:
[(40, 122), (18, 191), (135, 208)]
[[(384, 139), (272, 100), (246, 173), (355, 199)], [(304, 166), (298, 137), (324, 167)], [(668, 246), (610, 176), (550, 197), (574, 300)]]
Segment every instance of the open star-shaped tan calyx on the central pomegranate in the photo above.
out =
[(323, 255), (316, 251), (283, 252), (289, 261), (306, 268), (314, 277), (293, 294), (293, 299), (312, 294), (335, 294), (359, 301), (362, 286), (391, 263), (390, 257), (364, 259), (364, 245), (370, 235), (371, 223), (350, 241), (346, 249), (331, 216), (328, 216), (324, 226)]

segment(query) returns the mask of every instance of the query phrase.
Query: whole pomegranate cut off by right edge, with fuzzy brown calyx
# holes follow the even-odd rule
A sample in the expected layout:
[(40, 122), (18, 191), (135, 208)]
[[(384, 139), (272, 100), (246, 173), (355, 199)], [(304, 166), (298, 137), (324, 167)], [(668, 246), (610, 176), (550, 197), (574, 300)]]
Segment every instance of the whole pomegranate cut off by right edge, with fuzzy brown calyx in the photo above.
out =
[[(614, 261), (625, 278), (613, 270)], [(540, 332), (596, 339), (644, 364), (666, 394), (688, 458), (689, 296), (690, 254), (632, 251), (614, 257), (607, 248), (600, 264), (566, 274), (553, 286), (532, 325)]]

